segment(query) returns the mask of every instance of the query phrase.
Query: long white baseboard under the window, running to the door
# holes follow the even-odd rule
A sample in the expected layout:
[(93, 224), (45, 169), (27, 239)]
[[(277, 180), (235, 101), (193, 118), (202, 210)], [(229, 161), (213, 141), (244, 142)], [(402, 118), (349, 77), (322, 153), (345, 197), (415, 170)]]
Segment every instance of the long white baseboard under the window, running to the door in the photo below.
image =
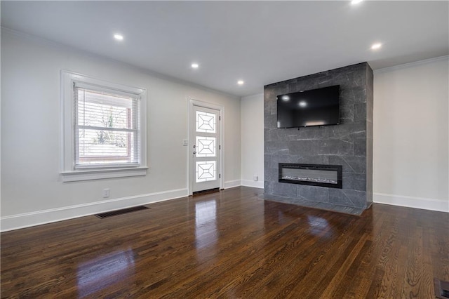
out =
[(187, 189), (177, 189), (164, 192), (141, 194), (133, 197), (121, 197), (119, 199), (95, 201), (88, 204), (77, 204), (74, 206), (65, 206), (62, 208), (51, 208), (48, 210), (35, 211), (30, 213), (8, 215), (0, 218), (0, 231), (8, 232), (9, 230), (18, 230), (20, 228), (43, 225), (46, 223), (79, 218), (87, 215), (114, 211), (121, 208), (130, 208), (132, 206), (140, 206), (142, 204), (151, 204), (157, 201), (166, 201), (187, 196)]

